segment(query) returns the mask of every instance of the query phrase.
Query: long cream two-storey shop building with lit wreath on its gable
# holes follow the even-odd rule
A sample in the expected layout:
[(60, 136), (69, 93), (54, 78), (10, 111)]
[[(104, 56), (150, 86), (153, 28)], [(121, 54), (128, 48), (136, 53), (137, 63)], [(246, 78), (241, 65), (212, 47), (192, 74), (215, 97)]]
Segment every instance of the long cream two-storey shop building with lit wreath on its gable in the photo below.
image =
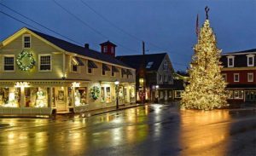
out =
[(3, 40), (0, 64), (0, 114), (79, 113), (113, 107), (117, 96), (120, 105), (136, 102), (135, 69), (89, 44), (25, 27)]

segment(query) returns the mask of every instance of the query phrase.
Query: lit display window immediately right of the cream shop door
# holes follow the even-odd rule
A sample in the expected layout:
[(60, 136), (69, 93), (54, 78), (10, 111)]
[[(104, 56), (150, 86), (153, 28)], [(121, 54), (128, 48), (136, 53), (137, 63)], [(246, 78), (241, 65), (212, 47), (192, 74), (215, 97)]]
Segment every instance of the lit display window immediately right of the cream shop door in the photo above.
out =
[(75, 88), (74, 103), (76, 107), (84, 106), (86, 104), (86, 87)]

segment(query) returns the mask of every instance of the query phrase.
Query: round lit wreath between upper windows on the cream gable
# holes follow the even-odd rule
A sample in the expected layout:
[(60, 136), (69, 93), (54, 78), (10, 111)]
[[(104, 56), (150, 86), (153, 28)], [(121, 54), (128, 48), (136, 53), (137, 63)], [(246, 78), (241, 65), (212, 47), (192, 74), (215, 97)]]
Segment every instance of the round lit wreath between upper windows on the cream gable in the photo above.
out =
[(21, 71), (28, 71), (35, 66), (36, 61), (34, 60), (32, 53), (22, 50), (17, 57), (16, 63)]

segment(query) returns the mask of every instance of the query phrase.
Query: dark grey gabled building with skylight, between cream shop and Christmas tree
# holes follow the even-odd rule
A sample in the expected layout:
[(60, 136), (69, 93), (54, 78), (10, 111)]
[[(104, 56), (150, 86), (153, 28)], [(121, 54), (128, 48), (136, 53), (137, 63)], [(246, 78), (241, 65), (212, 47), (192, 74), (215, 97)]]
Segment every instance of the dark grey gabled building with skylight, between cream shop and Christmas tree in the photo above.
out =
[(137, 69), (137, 101), (143, 98), (146, 101), (172, 101), (175, 94), (180, 95), (180, 88), (173, 83), (174, 70), (167, 53), (123, 55), (117, 58)]

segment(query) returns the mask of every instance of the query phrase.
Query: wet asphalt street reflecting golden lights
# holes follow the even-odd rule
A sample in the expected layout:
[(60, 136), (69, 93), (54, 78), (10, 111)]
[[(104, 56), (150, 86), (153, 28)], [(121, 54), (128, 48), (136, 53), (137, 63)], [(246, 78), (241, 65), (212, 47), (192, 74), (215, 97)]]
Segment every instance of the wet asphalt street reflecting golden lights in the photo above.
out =
[(0, 155), (256, 155), (255, 110), (153, 104), (85, 118), (0, 118)]

